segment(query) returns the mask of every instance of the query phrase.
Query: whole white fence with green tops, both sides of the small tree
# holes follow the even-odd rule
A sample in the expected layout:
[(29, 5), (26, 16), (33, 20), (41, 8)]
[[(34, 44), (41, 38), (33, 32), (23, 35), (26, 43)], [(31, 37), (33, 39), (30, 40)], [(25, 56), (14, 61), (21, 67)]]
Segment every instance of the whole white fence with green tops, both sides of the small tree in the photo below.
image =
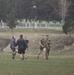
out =
[[(47, 29), (55, 29), (55, 30), (62, 30), (63, 23), (61, 22), (35, 22), (35, 21), (21, 21), (18, 22), (16, 28), (47, 28)], [(0, 28), (8, 28), (7, 24), (3, 21), (0, 22)]]

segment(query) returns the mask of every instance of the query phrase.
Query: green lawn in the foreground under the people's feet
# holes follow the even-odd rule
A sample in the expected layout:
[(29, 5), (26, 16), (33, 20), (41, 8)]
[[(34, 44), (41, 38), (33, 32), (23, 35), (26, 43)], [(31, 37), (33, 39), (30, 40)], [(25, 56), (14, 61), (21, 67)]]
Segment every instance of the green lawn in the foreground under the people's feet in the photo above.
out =
[(0, 54), (0, 75), (74, 75), (74, 58), (49, 58), (29, 56), (24, 61), (17, 55)]

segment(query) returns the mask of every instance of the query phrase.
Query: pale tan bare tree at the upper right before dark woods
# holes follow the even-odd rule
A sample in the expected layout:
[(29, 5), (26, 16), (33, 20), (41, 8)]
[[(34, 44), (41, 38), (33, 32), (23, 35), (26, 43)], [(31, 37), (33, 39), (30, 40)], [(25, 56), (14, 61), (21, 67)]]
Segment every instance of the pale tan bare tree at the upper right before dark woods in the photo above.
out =
[(59, 0), (59, 11), (61, 19), (65, 21), (65, 18), (68, 14), (68, 8), (71, 5), (71, 0)]

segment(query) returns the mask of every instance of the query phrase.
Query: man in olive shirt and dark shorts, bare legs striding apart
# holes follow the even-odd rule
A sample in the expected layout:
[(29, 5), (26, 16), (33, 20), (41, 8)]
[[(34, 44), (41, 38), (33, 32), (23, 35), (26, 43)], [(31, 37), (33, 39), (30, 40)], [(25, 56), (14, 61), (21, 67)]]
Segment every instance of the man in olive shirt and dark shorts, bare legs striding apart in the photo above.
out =
[(37, 59), (39, 59), (39, 55), (41, 54), (42, 51), (44, 51), (44, 59), (46, 59), (46, 40), (45, 40), (45, 35), (42, 36), (42, 39), (39, 42), (40, 45), (40, 51), (38, 53)]

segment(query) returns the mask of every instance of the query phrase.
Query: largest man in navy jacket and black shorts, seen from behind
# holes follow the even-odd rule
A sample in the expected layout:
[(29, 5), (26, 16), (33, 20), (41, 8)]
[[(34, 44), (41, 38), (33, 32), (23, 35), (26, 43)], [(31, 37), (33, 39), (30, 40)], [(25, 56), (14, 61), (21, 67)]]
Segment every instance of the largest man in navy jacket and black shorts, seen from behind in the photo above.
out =
[(16, 42), (16, 46), (18, 46), (18, 53), (20, 54), (21, 60), (24, 60), (24, 54), (26, 50), (26, 41), (23, 39), (23, 35), (20, 35), (20, 38)]

